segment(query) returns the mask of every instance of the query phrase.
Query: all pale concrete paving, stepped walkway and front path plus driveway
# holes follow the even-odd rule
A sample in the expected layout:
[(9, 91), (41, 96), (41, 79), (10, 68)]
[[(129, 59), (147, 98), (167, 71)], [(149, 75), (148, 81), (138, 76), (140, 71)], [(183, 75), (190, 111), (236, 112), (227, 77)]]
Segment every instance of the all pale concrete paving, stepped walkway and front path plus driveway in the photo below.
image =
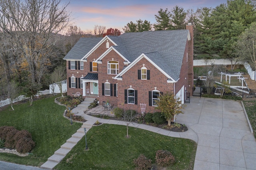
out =
[[(192, 139), (198, 143), (194, 170), (255, 170), (256, 169), (256, 141), (241, 102), (232, 100), (221, 100), (213, 98), (192, 97), (190, 103), (186, 103), (184, 114), (176, 117), (176, 122), (185, 124), (188, 131), (178, 133), (171, 132), (149, 125), (131, 123), (130, 126), (145, 129), (170, 137), (182, 137)], [(126, 125), (123, 121), (111, 119), (100, 119), (92, 117), (84, 112), (100, 113), (106, 112), (98, 106), (88, 110), (89, 105), (85, 102), (72, 109), (76, 115), (82, 115), (86, 120), (84, 125), (78, 129), (80, 139), (84, 136), (84, 128), (87, 131), (98, 120), (101, 123)], [(111, 114), (108, 111), (108, 114)], [(77, 134), (76, 133), (76, 134)], [(75, 135), (75, 134), (74, 134)], [(72, 135), (72, 138), (75, 136)], [(70, 143), (73, 139), (67, 140)], [(60, 150), (71, 150), (72, 147), (61, 146)], [(64, 144), (69, 145), (69, 144)], [(52, 169), (66, 156), (69, 151), (62, 154), (56, 151), (41, 166), (43, 169)]]

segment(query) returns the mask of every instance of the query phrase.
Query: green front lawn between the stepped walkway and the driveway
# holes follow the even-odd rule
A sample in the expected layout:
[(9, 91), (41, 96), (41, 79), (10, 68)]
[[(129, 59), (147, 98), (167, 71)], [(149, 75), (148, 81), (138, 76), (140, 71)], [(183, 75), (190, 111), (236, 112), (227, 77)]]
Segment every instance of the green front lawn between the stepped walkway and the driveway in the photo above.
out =
[(167, 137), (143, 129), (129, 127), (129, 139), (126, 138), (126, 126), (102, 124), (92, 127), (86, 134), (88, 150), (85, 151), (85, 139), (68, 153), (58, 164), (58, 170), (133, 170), (133, 159), (144, 154), (155, 162), (157, 150), (169, 150), (176, 163), (168, 170), (192, 170), (196, 156), (194, 141)]

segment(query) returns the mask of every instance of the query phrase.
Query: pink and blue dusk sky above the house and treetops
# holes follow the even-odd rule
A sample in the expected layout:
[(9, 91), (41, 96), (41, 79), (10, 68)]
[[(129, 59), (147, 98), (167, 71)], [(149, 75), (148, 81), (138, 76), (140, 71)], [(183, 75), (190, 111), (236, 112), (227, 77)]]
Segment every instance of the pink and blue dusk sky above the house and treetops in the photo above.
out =
[(174, 6), (184, 10), (200, 7), (212, 7), (226, 3), (227, 0), (70, 0), (68, 11), (71, 12), (73, 25), (82, 31), (94, 29), (94, 25), (112, 27), (123, 31), (123, 27), (136, 20), (148, 20), (156, 23), (155, 15), (160, 8), (171, 11)]

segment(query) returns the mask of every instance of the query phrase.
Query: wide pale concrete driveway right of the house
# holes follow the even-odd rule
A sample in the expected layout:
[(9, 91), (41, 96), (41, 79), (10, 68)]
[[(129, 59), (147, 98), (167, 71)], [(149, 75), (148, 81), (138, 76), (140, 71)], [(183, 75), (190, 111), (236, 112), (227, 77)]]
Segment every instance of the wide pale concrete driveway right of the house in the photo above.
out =
[(240, 101), (192, 97), (176, 122), (198, 136), (194, 170), (255, 170), (256, 141)]

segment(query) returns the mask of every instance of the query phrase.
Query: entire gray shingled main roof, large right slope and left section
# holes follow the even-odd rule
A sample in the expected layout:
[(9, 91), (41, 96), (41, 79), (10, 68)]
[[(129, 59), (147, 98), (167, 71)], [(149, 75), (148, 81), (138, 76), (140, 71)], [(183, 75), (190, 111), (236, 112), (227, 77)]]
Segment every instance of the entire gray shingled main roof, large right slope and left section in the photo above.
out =
[[(108, 37), (117, 44), (113, 47), (128, 61), (132, 62), (144, 53), (174, 80), (178, 80), (188, 33), (184, 29), (123, 33)], [(82, 59), (101, 39), (81, 38), (64, 59)]]

